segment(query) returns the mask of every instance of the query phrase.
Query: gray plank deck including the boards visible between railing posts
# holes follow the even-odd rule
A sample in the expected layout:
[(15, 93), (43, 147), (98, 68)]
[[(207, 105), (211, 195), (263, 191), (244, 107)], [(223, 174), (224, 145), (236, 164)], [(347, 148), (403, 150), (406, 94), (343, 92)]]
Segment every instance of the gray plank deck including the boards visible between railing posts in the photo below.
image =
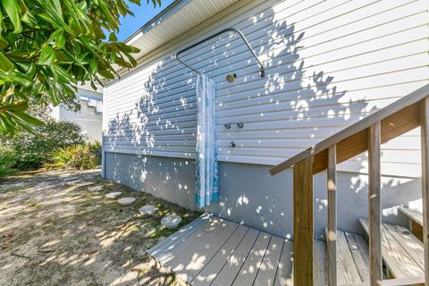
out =
[[(339, 233), (339, 285), (365, 282), (363, 237)], [(148, 253), (191, 285), (292, 285), (291, 241), (203, 215)], [(315, 285), (326, 285), (326, 244), (315, 240)]]

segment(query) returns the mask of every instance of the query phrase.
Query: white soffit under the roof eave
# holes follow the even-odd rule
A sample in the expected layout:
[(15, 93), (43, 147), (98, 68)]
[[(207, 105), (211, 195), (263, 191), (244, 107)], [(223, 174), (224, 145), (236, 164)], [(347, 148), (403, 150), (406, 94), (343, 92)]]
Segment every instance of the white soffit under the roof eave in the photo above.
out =
[[(177, 0), (126, 40), (140, 49), (139, 60), (240, 0)], [(138, 16), (138, 15), (136, 15)]]

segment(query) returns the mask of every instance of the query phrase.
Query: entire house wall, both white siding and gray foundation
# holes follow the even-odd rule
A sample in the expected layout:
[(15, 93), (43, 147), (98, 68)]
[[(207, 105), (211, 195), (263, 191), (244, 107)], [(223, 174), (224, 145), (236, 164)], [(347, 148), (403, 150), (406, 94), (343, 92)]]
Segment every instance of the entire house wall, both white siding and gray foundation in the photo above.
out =
[[(263, 61), (265, 78), (235, 36), (211, 40), (183, 55), (216, 83), (221, 202), (210, 209), (275, 234), (290, 234), (290, 171), (270, 177), (268, 165), (428, 83), (428, 23), (426, 0), (232, 6), (208, 20), (206, 28), (183, 35), (181, 46), (160, 47), (141, 67), (105, 88), (105, 176), (193, 206), (195, 73), (172, 55), (234, 27)], [(237, 74), (233, 83), (225, 80), (228, 73)], [(244, 127), (223, 127), (236, 122)], [(236, 147), (230, 147), (231, 141)], [(418, 206), (419, 145), (418, 130), (383, 145), (387, 220), (398, 220), (393, 206)], [(339, 166), (340, 213), (349, 214), (339, 215), (342, 229), (358, 231), (357, 217), (367, 214), (366, 166), (366, 155)], [(315, 211), (324, 212), (324, 175), (315, 180)], [(319, 234), (324, 217), (318, 215), (315, 223)]]

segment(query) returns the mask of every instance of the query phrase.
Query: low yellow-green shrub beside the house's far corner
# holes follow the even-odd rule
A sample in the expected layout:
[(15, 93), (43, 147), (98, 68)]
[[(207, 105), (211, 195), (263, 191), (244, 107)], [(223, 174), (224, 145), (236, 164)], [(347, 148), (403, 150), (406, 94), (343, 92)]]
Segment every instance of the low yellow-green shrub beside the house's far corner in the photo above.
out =
[(56, 149), (51, 155), (51, 163), (46, 168), (93, 169), (101, 163), (101, 145), (79, 144)]

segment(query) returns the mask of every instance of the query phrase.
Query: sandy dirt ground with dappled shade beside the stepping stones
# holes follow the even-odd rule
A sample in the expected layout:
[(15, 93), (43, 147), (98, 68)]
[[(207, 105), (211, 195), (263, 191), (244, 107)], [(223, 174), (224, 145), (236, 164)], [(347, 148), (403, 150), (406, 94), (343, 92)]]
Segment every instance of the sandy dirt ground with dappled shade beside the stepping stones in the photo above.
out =
[[(111, 191), (137, 200), (120, 206), (105, 198)], [(146, 204), (158, 212), (139, 214)], [(177, 231), (161, 226), (166, 214), (181, 215), (179, 227), (199, 215), (104, 181), (99, 170), (10, 177), (0, 183), (0, 285), (178, 285), (146, 253)]]

